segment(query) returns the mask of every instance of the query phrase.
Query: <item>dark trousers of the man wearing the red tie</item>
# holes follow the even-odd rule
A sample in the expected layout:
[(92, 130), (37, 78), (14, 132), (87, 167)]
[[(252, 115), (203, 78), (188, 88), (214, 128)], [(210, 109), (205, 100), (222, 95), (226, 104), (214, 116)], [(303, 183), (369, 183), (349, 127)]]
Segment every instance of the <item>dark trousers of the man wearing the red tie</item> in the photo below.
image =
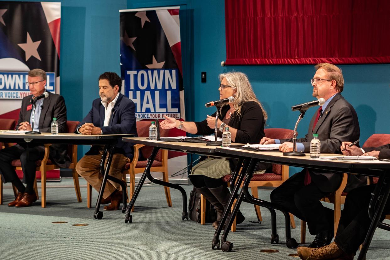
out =
[(329, 193), (321, 191), (313, 182), (304, 184), (306, 169), (298, 172), (271, 192), (271, 202), (282, 206), (306, 221), (310, 234), (333, 230), (333, 210), (319, 201)]

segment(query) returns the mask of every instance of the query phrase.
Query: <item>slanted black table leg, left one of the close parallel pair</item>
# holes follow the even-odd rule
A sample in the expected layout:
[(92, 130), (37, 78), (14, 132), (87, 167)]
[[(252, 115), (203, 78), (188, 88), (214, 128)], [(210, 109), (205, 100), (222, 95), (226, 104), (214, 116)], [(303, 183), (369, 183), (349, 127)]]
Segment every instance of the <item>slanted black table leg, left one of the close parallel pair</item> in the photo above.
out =
[[(250, 159), (250, 163), (252, 163), (252, 161), (254, 161), (254, 159)], [(248, 169), (248, 164), (250, 164), (250, 163), (248, 163), (248, 160), (244, 160), (243, 168), (241, 170), (241, 174), (238, 175), (238, 171), (239, 170), (237, 168), (235, 169), (235, 171), (233, 173), (233, 178), (236, 179), (236, 177), (238, 175), (238, 179), (237, 179), (237, 182), (235, 182), (235, 183), (231, 182), (232, 185), (234, 184), (234, 188), (233, 188), (232, 194), (230, 195), (229, 201), (227, 202), (227, 206), (226, 206), (225, 210), (223, 211), (222, 219), (220, 220), (220, 223), (218, 224), (218, 227), (215, 230), (213, 241), (212, 241), (212, 244), (211, 244), (211, 249), (220, 249), (219, 236), (220, 236), (220, 234), (222, 232), (223, 225), (226, 222), (227, 216), (230, 213), (230, 210), (232, 208), (234, 199), (237, 198), (237, 196), (238, 196), (238, 190), (239, 190), (239, 188), (241, 186), (241, 183), (242, 183), (242, 181), (244, 179), (245, 173), (246, 173), (246, 171)], [(222, 241), (222, 242), (224, 242), (224, 241)]]

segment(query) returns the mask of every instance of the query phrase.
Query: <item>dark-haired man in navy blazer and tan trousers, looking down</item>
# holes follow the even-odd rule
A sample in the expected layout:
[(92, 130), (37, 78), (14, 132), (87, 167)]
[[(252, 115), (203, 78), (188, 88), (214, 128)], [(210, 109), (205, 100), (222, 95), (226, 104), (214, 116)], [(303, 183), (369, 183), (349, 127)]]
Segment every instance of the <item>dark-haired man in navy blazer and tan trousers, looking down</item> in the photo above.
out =
[[(132, 100), (120, 93), (121, 87), (122, 80), (118, 74), (105, 72), (99, 76), (100, 98), (92, 102), (91, 110), (78, 125), (76, 133), (135, 134), (137, 136), (135, 104)], [(97, 191), (99, 191), (103, 180), (103, 175), (100, 173), (102, 154), (103, 147), (93, 145), (76, 165), (77, 173), (86, 179)], [(109, 174), (117, 179), (122, 179), (121, 170), (132, 158), (133, 144), (118, 140), (114, 148)], [(102, 204), (109, 202), (111, 204), (105, 206), (104, 209), (119, 209), (121, 198), (121, 186), (116, 182), (108, 180), (103, 193)]]

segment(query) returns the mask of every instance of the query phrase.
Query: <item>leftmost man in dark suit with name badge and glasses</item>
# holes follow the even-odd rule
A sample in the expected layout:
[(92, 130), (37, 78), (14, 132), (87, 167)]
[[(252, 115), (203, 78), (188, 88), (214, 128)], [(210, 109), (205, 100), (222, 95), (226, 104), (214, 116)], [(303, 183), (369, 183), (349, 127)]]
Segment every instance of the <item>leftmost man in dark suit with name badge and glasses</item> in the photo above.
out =
[[(39, 99), (34, 113), (34, 129), (32, 129), (32, 105), (30, 99), (43, 94), (46, 91), (46, 72), (41, 69), (33, 69), (28, 72), (28, 85), (32, 95), (24, 97), (19, 114), (18, 130), (33, 130), (41, 132), (50, 132), (50, 125), (53, 117), (57, 118), (58, 132), (66, 132), (66, 106), (64, 98), (58, 94), (48, 92), (48, 97)], [(70, 158), (67, 155), (66, 145), (51, 145), (50, 159), (60, 167), (68, 167)], [(37, 200), (34, 192), (35, 179), (35, 161), (42, 160), (45, 154), (43, 145), (28, 145), (18, 143), (14, 146), (0, 150), (0, 174), (2, 181), (12, 182), (18, 189), (18, 195), (9, 207), (27, 207), (31, 206)], [(16, 175), (15, 168), (11, 162), (14, 159), (20, 159), (23, 170), (23, 182)]]

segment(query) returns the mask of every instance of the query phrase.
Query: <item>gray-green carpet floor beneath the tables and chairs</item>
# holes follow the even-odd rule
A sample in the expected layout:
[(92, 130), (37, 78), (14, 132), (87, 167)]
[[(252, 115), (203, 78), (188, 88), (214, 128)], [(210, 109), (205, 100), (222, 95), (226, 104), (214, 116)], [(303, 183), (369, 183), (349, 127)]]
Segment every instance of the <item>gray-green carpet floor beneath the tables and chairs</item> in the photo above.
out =
[[(120, 210), (105, 211), (103, 219), (93, 218), (94, 209), (86, 207), (87, 190), (80, 179), (83, 202), (78, 203), (73, 179), (50, 183), (47, 207), (40, 201), (28, 208), (7, 207), (13, 200), (9, 184), (4, 185), (4, 204), (0, 205), (0, 259), (294, 259), (295, 249), (285, 246), (284, 218), (277, 212), (280, 244), (270, 244), (271, 218), (262, 208), (262, 223), (257, 223), (252, 205), (243, 203), (245, 221), (237, 232), (230, 232), (233, 251), (211, 249), (215, 232), (211, 224), (182, 221), (181, 193), (171, 189), (173, 207), (167, 207), (163, 187), (144, 186), (138, 196), (133, 223), (124, 223)], [(53, 187), (57, 186), (57, 187)], [(183, 186), (189, 196), (192, 186)], [(269, 190), (259, 196), (269, 200)], [(93, 193), (93, 202), (97, 193)], [(53, 221), (66, 221), (53, 224)], [(88, 224), (88, 226), (73, 226)], [(300, 240), (300, 223), (292, 237)], [(307, 241), (313, 237), (307, 233)], [(277, 253), (262, 253), (276, 249)], [(297, 258), (295, 258), (297, 259)], [(390, 233), (377, 230), (367, 259), (390, 259)]]

